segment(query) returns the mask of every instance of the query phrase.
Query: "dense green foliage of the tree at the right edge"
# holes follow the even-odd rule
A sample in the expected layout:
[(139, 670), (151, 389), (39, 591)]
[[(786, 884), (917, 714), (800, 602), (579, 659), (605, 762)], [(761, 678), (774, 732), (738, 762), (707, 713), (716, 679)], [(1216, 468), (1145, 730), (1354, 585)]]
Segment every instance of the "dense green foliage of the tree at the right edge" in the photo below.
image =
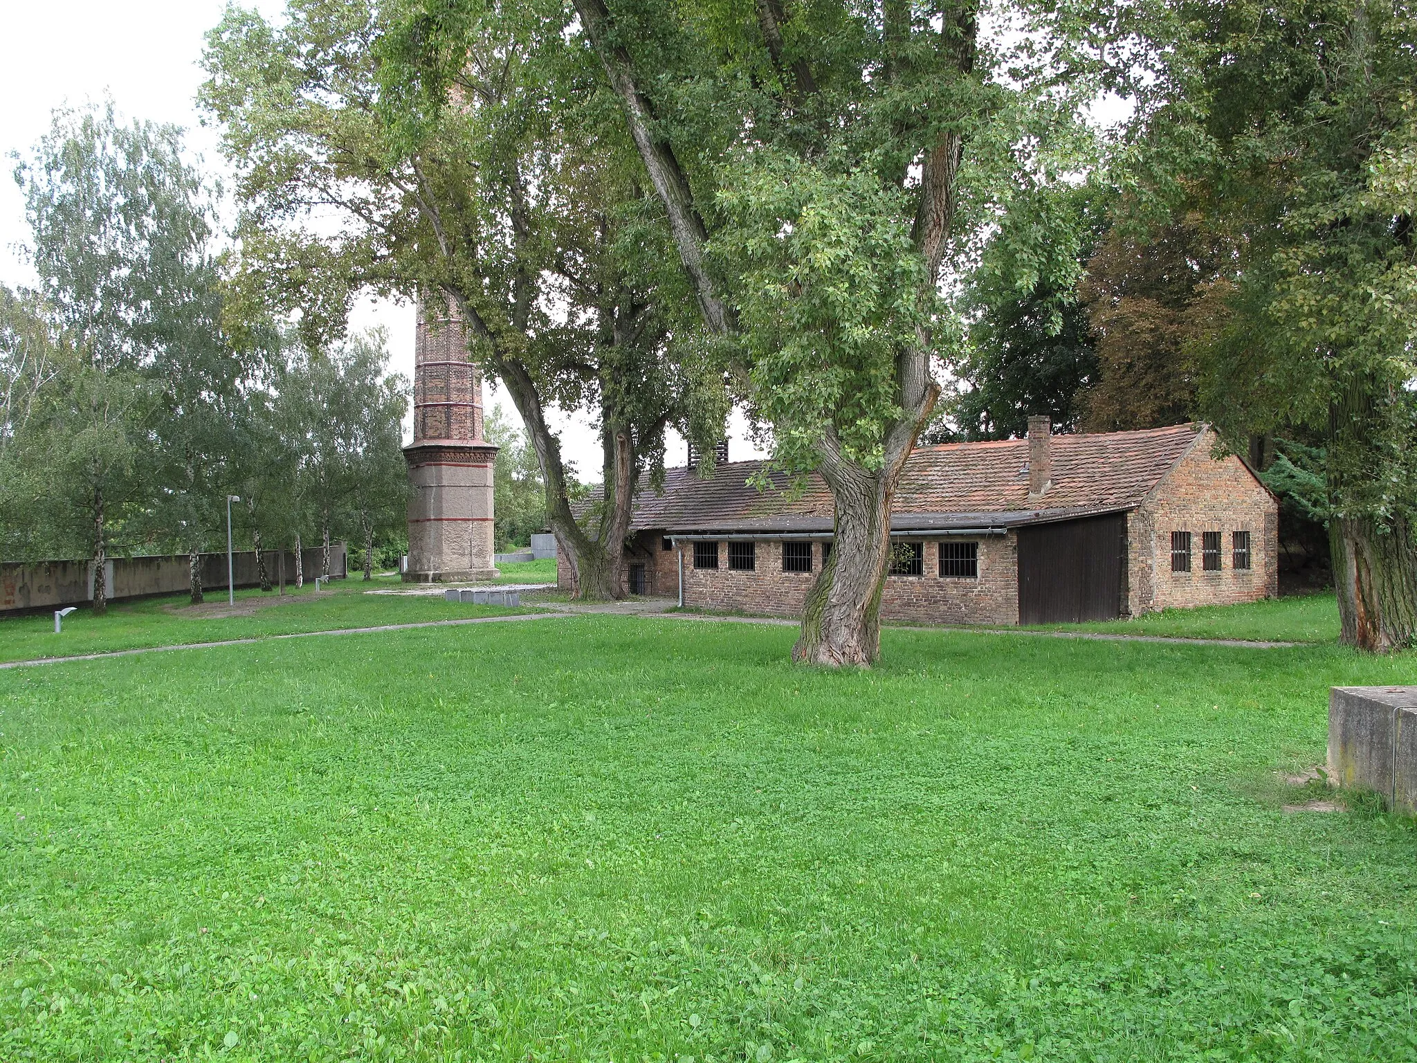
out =
[(1332, 512), (1407, 520), (1417, 23), (1366, 0), (1236, 3), (1189, 34), (1153, 129), (1185, 115), (1204, 137), (1178, 177), (1234, 258), (1195, 344), (1202, 408), (1231, 439), (1326, 437)]

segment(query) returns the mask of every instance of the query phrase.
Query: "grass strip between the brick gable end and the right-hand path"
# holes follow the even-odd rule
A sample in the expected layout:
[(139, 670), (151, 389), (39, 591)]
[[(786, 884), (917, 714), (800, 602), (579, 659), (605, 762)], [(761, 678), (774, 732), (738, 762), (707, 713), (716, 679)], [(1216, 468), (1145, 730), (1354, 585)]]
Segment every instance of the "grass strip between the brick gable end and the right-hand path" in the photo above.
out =
[(1338, 642), (1338, 601), (1332, 591), (1297, 594), (1248, 605), (1203, 605), (1163, 609), (1135, 619), (1046, 625), (1061, 631), (1105, 631), (1124, 635), (1179, 635), (1202, 639)]

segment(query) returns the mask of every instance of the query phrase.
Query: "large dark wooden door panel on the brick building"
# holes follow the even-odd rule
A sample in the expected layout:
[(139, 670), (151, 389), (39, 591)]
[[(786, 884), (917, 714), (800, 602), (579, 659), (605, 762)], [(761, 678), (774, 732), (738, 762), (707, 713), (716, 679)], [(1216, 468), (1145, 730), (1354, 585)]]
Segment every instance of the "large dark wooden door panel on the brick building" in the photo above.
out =
[(1019, 624), (1121, 615), (1127, 514), (1019, 529)]

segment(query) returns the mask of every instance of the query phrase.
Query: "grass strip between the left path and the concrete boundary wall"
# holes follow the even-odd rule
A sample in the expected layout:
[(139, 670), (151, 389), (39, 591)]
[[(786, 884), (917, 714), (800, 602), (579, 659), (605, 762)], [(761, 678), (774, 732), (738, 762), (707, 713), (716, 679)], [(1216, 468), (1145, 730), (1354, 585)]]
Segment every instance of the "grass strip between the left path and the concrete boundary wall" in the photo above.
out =
[[(0, 619), (0, 662), (523, 611), (462, 605), (427, 595), (364, 592), (371, 587), (398, 585), (397, 577), (377, 577), (364, 583), (356, 575), (350, 580), (333, 580), (326, 584), (332, 592), (320, 591), (319, 597), (315, 595), (313, 583), (306, 584), (302, 591), (286, 587), (283, 601), (275, 591), (262, 594), (259, 590), (239, 590), (238, 605), (251, 600), (268, 604), (252, 615), (237, 617), (183, 612), (183, 607), (191, 601), (186, 594), (132, 602), (118, 601), (108, 607), (106, 617), (95, 617), (86, 608), (71, 612), (64, 619), (64, 631), (58, 635), (54, 634), (54, 614), (11, 617)], [(220, 609), (225, 602), (225, 588), (207, 594), (208, 607)]]

